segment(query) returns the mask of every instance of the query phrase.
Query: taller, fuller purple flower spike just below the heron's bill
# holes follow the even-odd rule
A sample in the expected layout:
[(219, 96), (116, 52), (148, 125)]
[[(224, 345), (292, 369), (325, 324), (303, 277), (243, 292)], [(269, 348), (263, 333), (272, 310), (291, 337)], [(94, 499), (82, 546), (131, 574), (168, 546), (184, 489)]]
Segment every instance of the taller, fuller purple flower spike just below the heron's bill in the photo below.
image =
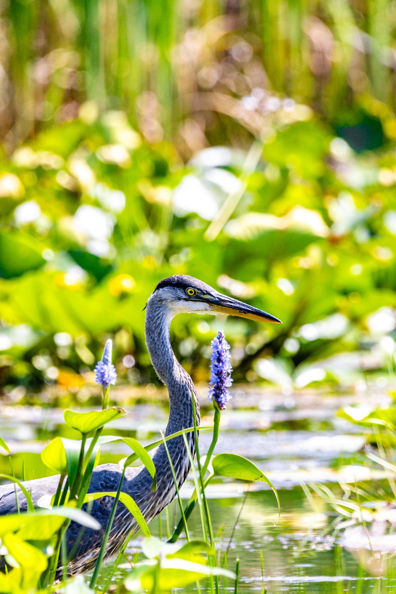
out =
[(208, 400), (213, 400), (220, 410), (224, 410), (231, 398), (228, 388), (232, 384), (232, 365), (230, 364), (230, 345), (224, 338), (222, 330), (219, 330), (217, 336), (212, 340), (211, 347), (213, 353), (210, 358)]

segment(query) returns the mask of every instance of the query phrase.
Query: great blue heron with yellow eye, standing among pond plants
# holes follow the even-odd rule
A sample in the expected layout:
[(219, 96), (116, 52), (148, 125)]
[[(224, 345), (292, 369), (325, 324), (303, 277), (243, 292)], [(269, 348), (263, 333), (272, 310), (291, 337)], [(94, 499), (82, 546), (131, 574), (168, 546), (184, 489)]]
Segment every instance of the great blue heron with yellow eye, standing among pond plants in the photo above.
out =
[[(170, 346), (169, 326), (176, 314), (182, 312), (198, 312), (199, 314), (231, 314), (249, 320), (280, 323), (278, 318), (267, 314), (261, 309), (246, 305), (236, 299), (221, 295), (217, 290), (201, 280), (191, 276), (175, 275), (161, 280), (147, 301), (145, 308), (145, 340), (151, 362), (160, 380), (166, 385), (169, 393), (169, 421), (165, 435), (171, 435), (181, 429), (194, 425), (191, 394), (195, 398), (195, 410), (199, 425), (199, 402), (197, 391), (191, 377), (182, 368)], [(195, 454), (194, 433), (187, 436), (191, 453)], [(190, 469), (189, 457), (185, 449), (183, 437), (176, 437), (168, 441), (169, 453), (175, 469), (179, 487), (183, 484)], [(153, 462), (156, 466), (157, 489), (151, 492), (152, 479), (144, 466), (128, 468), (122, 485), (125, 491), (138, 504), (146, 522), (158, 516), (176, 494), (172, 471), (169, 465), (164, 445), (154, 451)], [(91, 478), (89, 492), (116, 491), (120, 479), (120, 470), (116, 464), (97, 466)], [(36, 479), (24, 483), (31, 492), (33, 504), (37, 504), (42, 495), (54, 494), (59, 476)], [(20, 510), (27, 508), (26, 499), (20, 489), (17, 489)], [(69, 564), (68, 573), (76, 574), (88, 571), (94, 567), (102, 544), (104, 529), (109, 519), (113, 498), (102, 497), (93, 502), (91, 516), (102, 525), (101, 530), (85, 529), (81, 538), (81, 526), (71, 522), (66, 533), (68, 553), (72, 550), (77, 537), (79, 544)], [(0, 514), (15, 513), (17, 511), (14, 485), (0, 487)], [(123, 546), (126, 536), (138, 526), (126, 507), (118, 504), (110, 538), (106, 548), (106, 559), (114, 558)]]

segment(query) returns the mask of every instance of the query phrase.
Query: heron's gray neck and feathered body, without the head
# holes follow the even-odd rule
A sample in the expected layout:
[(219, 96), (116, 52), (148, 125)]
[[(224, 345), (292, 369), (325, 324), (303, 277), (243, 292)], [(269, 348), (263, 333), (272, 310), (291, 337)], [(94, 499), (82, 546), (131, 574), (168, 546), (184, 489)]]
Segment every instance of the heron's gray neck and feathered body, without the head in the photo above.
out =
[[(155, 293), (153, 293), (155, 295)], [(169, 339), (169, 326), (175, 312), (170, 311), (166, 302), (159, 303), (157, 295), (155, 299), (151, 296), (147, 303), (145, 317), (145, 338), (150, 352), (151, 361), (157, 374), (166, 384), (169, 393), (169, 421), (165, 435), (171, 435), (180, 429), (194, 425), (192, 394), (195, 397), (195, 409), (197, 412), (197, 424), (199, 425), (199, 402), (197, 392), (191, 377), (173, 354)], [(194, 434), (187, 435), (192, 455), (195, 454)], [(188, 475), (190, 463), (186, 452), (183, 437), (176, 437), (167, 443), (176, 478), (179, 487), (183, 484)], [(131, 495), (138, 504), (145, 521), (148, 523), (156, 517), (176, 495), (173, 482), (172, 470), (164, 445), (160, 445), (154, 453), (153, 462), (156, 466), (157, 489), (151, 491), (153, 480), (144, 466), (129, 468), (126, 470), (122, 491)], [(109, 492), (116, 491), (119, 485), (121, 473), (117, 465), (104, 464), (97, 466), (93, 471), (88, 492)], [(59, 476), (52, 476), (45, 479), (36, 479), (24, 483), (31, 492), (33, 504), (42, 495), (54, 494), (58, 485)], [(23, 493), (18, 489), (18, 501), (21, 510), (26, 510), (26, 500)], [(69, 564), (69, 573), (75, 574), (87, 571), (94, 567), (96, 558), (99, 555), (102, 545), (104, 530), (109, 519), (113, 498), (103, 497), (93, 502), (91, 516), (95, 517), (102, 525), (101, 530), (86, 528), (77, 545), (74, 557)], [(0, 487), (0, 514), (15, 513), (17, 505), (15, 500), (14, 485), (3, 485)], [(72, 522), (66, 533), (68, 552), (74, 546), (81, 526)], [(106, 549), (106, 559), (115, 557), (121, 550), (125, 538), (131, 530), (137, 530), (138, 526), (134, 517), (126, 507), (118, 504), (116, 516), (110, 533), (109, 543)]]

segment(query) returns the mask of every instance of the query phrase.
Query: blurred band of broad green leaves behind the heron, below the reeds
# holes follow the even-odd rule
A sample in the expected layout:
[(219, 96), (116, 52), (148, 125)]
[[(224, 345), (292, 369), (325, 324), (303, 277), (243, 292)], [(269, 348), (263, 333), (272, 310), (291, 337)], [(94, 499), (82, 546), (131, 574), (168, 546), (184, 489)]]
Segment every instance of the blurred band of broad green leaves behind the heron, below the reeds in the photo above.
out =
[(241, 149), (221, 146), (184, 165), (172, 144), (142, 140), (122, 112), (100, 116), (87, 103), (3, 160), (7, 393), (43, 381), (78, 391), (109, 334), (121, 375), (154, 381), (142, 309), (170, 274), (196, 276), (283, 321), (176, 318), (176, 351), (197, 380), (224, 325), (237, 380), (287, 389), (342, 381), (343, 365), (328, 358), (359, 350), (370, 360), (346, 359), (350, 369), (384, 368), (395, 328), (394, 148), (358, 157), (310, 110), (281, 104), (257, 154), (250, 171)]

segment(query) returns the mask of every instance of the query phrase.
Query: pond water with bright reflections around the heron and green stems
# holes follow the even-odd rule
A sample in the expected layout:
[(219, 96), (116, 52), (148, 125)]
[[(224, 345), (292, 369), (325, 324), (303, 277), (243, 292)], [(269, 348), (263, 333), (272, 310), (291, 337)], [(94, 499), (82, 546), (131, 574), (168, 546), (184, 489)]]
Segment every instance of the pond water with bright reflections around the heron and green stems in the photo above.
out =
[[(320, 483), (335, 494), (342, 494), (340, 482), (353, 482), (355, 477), (364, 480), (366, 486), (370, 483), (372, 474), (368, 466), (372, 465), (363, 453), (365, 437), (359, 428), (336, 416), (340, 407), (367, 399), (377, 404), (387, 400), (381, 394), (284, 395), (252, 387), (234, 388), (230, 407), (221, 416), (216, 453), (236, 453), (253, 460), (278, 489), (281, 504), (280, 520), (276, 523), (275, 497), (263, 484), (248, 486), (224, 479), (207, 489), (221, 555), (227, 550), (230, 569), (235, 567), (236, 558), (240, 559), (240, 593), (265, 589), (273, 594), (396, 592), (394, 571), (388, 572), (387, 577), (378, 569), (372, 573), (365, 571), (370, 555), (377, 557), (371, 567), (383, 564), (382, 555), (370, 551), (363, 541), (360, 551), (356, 542), (354, 548), (340, 546), (345, 542), (342, 535), (334, 531), (334, 511), (316, 495), (308, 500), (301, 486)], [(211, 410), (205, 407), (204, 393), (201, 402), (204, 405), (201, 423), (210, 425)], [(166, 403), (159, 403), (154, 397), (148, 402), (140, 400), (125, 407), (130, 410), (129, 414), (107, 426), (107, 432), (137, 437), (145, 443), (157, 438), (158, 429), (166, 426)], [(43, 476), (45, 467), (40, 463), (39, 452), (46, 441), (55, 435), (77, 437), (62, 421), (60, 408), (2, 407), (0, 434), (11, 448), (16, 475), (22, 476), (25, 472), (26, 478)], [(201, 432), (202, 453), (207, 450), (210, 437), (210, 432)], [(123, 444), (112, 444), (102, 452), (101, 462), (116, 462), (125, 454)], [(0, 466), (1, 472), (9, 472), (8, 457), (2, 457)], [(383, 478), (381, 473), (376, 476)], [(386, 487), (386, 481), (382, 482)], [(182, 495), (188, 498), (191, 492), (192, 480), (188, 480)], [(174, 514), (179, 518), (177, 512), (172, 503), (167, 513), (161, 515), (160, 522), (151, 523), (151, 533), (161, 533), (165, 538), (167, 524), (172, 526)], [(189, 527), (192, 537), (202, 538), (197, 509), (189, 520)], [(139, 545), (139, 536), (134, 536), (127, 549), (130, 558)], [(392, 565), (393, 555), (388, 555), (389, 561)], [(127, 571), (128, 565), (121, 564), (112, 582), (120, 580)], [(205, 592), (204, 581), (202, 586)], [(229, 583), (223, 580), (223, 591), (233, 591), (233, 588), (230, 580)], [(184, 591), (194, 590), (195, 586)]]

